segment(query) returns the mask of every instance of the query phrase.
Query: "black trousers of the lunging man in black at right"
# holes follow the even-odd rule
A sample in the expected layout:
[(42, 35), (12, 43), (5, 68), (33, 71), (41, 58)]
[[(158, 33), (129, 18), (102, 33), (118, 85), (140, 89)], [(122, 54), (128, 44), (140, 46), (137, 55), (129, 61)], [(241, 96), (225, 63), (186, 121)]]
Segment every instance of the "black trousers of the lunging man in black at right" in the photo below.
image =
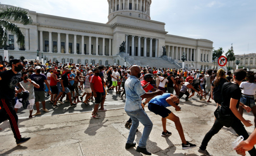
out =
[[(217, 134), (219, 132), (220, 129), (222, 129), (224, 125), (222, 125), (220, 122), (218, 122), (218, 120), (216, 119), (211, 130), (206, 133), (203, 141), (202, 141), (202, 144), (200, 146), (200, 149), (201, 150), (206, 150), (206, 146), (208, 144), (208, 142), (210, 141), (210, 139), (212, 138), (213, 135)], [(242, 135), (244, 140), (246, 140), (249, 135), (245, 129), (245, 127), (243, 127), (243, 124), (241, 123), (240, 120), (236, 119), (236, 121), (232, 124), (231, 126), (235, 132), (240, 136)], [(230, 143), (231, 144), (231, 143)], [(248, 151), (250, 155), (252, 156), (255, 156), (256, 155), (256, 149), (255, 147), (253, 147), (253, 149), (251, 149), (250, 151)]]

